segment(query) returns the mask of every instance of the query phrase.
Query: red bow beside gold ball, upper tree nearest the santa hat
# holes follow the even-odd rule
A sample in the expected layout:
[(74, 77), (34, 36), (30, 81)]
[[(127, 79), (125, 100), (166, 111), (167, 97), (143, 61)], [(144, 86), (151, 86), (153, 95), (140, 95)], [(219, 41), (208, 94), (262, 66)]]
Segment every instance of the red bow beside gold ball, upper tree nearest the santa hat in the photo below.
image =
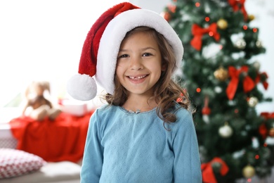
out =
[(209, 36), (214, 37), (214, 39), (218, 42), (220, 40), (220, 34), (217, 32), (217, 24), (212, 23), (207, 28), (202, 28), (197, 24), (193, 24), (191, 32), (193, 33), (193, 39), (191, 40), (190, 44), (193, 48), (197, 49), (198, 51), (202, 48), (202, 36), (203, 34), (209, 34)]

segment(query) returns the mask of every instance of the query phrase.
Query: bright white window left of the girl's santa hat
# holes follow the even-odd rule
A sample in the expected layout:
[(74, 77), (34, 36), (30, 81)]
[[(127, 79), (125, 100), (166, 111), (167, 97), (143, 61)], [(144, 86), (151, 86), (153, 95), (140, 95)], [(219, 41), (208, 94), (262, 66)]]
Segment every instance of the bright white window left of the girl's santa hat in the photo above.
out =
[(51, 94), (65, 94), (67, 79), (77, 73), (91, 25), (119, 2), (0, 1), (0, 108), (20, 100), (32, 80), (48, 80)]

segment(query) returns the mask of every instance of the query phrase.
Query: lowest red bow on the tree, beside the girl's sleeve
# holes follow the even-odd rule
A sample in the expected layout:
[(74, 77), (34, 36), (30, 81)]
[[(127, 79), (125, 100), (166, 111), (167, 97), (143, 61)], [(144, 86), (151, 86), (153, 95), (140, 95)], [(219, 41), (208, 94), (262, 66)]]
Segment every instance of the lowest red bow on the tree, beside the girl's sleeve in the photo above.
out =
[(212, 163), (221, 163), (221, 170), (220, 173), (221, 175), (226, 175), (228, 173), (228, 165), (221, 159), (221, 158), (214, 158), (211, 160), (209, 163), (202, 163), (201, 168), (202, 168), (202, 181), (207, 182), (207, 183), (217, 183), (217, 180), (214, 176), (214, 171), (211, 166)]

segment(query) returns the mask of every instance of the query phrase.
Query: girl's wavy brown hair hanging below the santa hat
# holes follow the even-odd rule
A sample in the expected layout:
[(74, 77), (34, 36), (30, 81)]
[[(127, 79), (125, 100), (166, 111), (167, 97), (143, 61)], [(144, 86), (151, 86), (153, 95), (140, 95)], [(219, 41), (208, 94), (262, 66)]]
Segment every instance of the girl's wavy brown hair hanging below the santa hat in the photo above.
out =
[[(157, 115), (159, 118), (164, 122), (175, 122), (176, 115), (169, 112), (169, 109), (175, 106), (174, 101), (177, 101), (181, 107), (190, 110), (190, 99), (188, 94), (185, 93), (185, 89), (181, 88), (181, 86), (172, 79), (172, 73), (176, 69), (174, 50), (162, 34), (150, 27), (136, 27), (127, 32), (124, 39), (137, 32), (146, 32), (157, 41), (162, 56), (162, 65), (164, 65), (166, 69), (162, 71), (158, 82), (155, 84), (152, 99), (155, 99), (157, 103)], [(128, 98), (128, 92), (122, 84), (120, 84), (116, 75), (114, 80), (114, 94), (105, 94), (104, 99), (110, 105), (122, 106)], [(192, 112), (194, 113), (194, 111)]]

